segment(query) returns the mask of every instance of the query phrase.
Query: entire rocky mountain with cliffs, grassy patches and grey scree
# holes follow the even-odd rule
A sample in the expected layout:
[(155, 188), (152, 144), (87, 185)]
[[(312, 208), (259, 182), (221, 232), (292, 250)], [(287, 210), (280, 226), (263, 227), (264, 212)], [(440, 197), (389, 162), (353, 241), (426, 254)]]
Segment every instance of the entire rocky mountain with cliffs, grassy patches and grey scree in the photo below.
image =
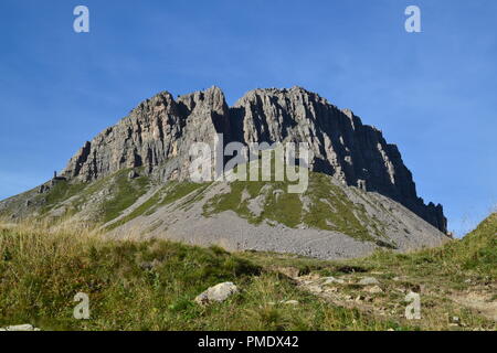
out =
[[(192, 183), (191, 145), (213, 146), (218, 133), (224, 146), (307, 142), (307, 191), (288, 193), (288, 181)], [(443, 207), (417, 196), (396, 146), (300, 87), (255, 89), (233, 107), (218, 87), (177, 99), (160, 93), (84, 143), (60, 175), (1, 202), (0, 215), (320, 258), (447, 239)]]

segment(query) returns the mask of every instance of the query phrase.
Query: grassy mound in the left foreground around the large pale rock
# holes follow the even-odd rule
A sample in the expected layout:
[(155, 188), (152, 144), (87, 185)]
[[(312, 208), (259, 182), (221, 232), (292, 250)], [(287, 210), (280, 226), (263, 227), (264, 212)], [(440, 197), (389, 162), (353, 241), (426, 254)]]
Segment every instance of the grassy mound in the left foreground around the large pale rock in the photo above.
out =
[[(0, 231), (0, 327), (44, 330), (385, 330), (358, 310), (329, 306), (292, 280), (220, 248), (104, 242), (84, 232)], [(197, 295), (222, 281), (242, 291), (209, 307)], [(74, 320), (77, 292), (91, 320)], [(299, 306), (271, 302), (298, 300)]]

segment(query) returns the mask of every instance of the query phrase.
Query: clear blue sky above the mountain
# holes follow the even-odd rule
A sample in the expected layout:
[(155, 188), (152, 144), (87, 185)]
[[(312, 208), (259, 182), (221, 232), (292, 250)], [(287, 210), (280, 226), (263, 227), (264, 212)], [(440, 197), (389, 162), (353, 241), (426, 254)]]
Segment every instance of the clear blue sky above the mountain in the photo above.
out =
[[(410, 4), (422, 33), (404, 30)], [(398, 143), (451, 229), (497, 204), (495, 0), (1, 0), (0, 30), (0, 199), (160, 90), (218, 85), (232, 104), (299, 85)]]

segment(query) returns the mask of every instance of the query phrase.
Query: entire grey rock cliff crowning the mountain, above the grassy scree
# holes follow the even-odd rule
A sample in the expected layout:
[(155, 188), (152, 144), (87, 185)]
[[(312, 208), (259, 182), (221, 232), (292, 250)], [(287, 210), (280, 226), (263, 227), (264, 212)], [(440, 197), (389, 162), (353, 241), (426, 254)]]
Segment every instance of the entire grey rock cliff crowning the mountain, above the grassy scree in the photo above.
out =
[(212, 146), (216, 133), (224, 143), (308, 142), (313, 171), (383, 194), (446, 233), (442, 206), (417, 196), (396, 146), (352, 111), (300, 87), (255, 89), (231, 108), (218, 87), (176, 100), (160, 93), (86, 142), (62, 176), (94, 181), (140, 167), (159, 180), (187, 180), (191, 143)]

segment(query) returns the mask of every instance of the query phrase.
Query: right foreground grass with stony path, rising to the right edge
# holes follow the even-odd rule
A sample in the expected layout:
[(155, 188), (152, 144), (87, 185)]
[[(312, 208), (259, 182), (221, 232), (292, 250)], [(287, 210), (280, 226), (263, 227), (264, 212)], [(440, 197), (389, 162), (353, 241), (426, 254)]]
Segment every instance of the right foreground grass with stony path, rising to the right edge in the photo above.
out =
[[(419, 329), (497, 330), (491, 321), (497, 318), (497, 213), (461, 240), (411, 254), (379, 250), (366, 258), (342, 261), (264, 253), (244, 256), (262, 267), (292, 266), (304, 274), (335, 276), (352, 282), (373, 276), (383, 290), (380, 293), (370, 295), (353, 285), (336, 289), (352, 298), (372, 298), (371, 307), (385, 309), (396, 318), (405, 308), (399, 306), (405, 293), (419, 292), (423, 318), (409, 321)], [(458, 318), (458, 322), (454, 323), (453, 318)]]

